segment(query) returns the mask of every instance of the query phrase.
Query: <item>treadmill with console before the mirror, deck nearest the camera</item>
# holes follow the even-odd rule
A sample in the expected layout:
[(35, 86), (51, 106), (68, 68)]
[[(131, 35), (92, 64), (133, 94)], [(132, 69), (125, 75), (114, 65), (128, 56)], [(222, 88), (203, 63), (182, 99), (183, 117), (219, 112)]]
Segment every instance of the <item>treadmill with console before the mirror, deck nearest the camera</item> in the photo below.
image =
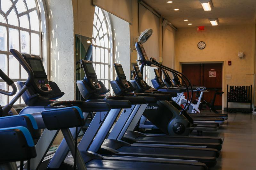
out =
[[(86, 60), (87, 61), (87, 60)], [(108, 135), (106, 129), (111, 128), (115, 122), (119, 112), (124, 108), (130, 109), (133, 102), (138, 102), (133, 97), (124, 96), (109, 96), (105, 97), (102, 94), (109, 92), (102, 82), (97, 80), (96, 73), (93, 69), (92, 62), (84, 63), (87, 67), (87, 76), (84, 81), (77, 81), (77, 86), (81, 91), (83, 97), (89, 102), (103, 102), (108, 103), (112, 108), (110, 111), (97, 112), (84, 136), (78, 144), (78, 149), (81, 152), (85, 166), (87, 168), (97, 169), (156, 169), (156, 168), (173, 168), (173, 169), (207, 169), (204, 163), (197, 161), (184, 161), (176, 159), (165, 158), (142, 158), (137, 157), (116, 157), (116, 156), (102, 156), (96, 153), (101, 146), (101, 140), (104, 140)], [(83, 66), (83, 65), (82, 65)], [(83, 66), (84, 67), (84, 66)], [(85, 83), (86, 82), (86, 83)], [(83, 88), (84, 87), (84, 88)], [(81, 89), (82, 88), (82, 89)], [(84, 96), (85, 95), (85, 96)], [(139, 99), (139, 98), (138, 98)], [(140, 98), (141, 101), (141, 98)], [(101, 107), (104, 107), (102, 105)], [(103, 108), (104, 109), (104, 108)], [(74, 130), (71, 129), (74, 137)], [(68, 153), (65, 139), (61, 142), (57, 152), (52, 157), (48, 164), (49, 169), (74, 169), (74, 159)]]

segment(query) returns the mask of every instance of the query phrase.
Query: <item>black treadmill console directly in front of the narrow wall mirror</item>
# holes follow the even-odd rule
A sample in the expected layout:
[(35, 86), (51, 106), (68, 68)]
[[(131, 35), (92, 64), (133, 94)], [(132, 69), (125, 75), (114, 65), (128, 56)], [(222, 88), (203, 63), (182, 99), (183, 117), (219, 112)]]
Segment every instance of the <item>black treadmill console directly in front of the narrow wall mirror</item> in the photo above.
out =
[(96, 91), (99, 91), (102, 89), (97, 75), (95, 73), (95, 70), (93, 68), (92, 62), (90, 60), (81, 60), (81, 65), (84, 69), (85, 78), (84, 80), (89, 83), (89, 85)]

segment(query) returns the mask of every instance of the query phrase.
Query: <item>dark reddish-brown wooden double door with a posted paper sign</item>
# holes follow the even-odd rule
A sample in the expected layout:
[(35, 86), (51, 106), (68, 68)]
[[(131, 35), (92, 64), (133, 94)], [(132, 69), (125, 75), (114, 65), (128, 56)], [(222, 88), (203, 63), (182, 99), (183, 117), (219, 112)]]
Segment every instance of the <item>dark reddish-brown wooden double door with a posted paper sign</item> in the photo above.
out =
[[(209, 92), (204, 92), (203, 98), (211, 102), (216, 89), (222, 91), (222, 63), (181, 64), (182, 73), (188, 77), (194, 86), (205, 86)], [(193, 99), (196, 97), (194, 95)], [(222, 97), (216, 96), (215, 109), (222, 109)]]

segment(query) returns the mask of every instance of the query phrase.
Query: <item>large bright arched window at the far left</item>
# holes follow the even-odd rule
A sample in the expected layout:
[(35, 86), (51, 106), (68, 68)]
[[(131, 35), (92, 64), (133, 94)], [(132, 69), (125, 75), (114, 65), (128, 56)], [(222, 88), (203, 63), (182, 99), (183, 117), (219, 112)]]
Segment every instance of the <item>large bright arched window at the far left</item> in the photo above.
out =
[[(37, 0), (0, 0), (0, 69), (15, 83), (27, 80), (28, 75), (9, 50), (41, 56), (39, 18)], [(11, 90), (1, 78), (0, 88)], [(0, 94), (0, 104), (5, 105), (12, 98)], [(15, 104), (22, 103), (20, 99)]]

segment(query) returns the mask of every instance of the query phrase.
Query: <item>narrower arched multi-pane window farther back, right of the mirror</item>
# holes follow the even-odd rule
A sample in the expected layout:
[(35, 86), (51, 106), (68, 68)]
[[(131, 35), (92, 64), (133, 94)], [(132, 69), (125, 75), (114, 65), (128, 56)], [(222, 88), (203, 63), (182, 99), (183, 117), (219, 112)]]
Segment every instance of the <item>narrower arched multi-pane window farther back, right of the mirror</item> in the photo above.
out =
[(107, 88), (110, 82), (110, 27), (104, 12), (99, 7), (95, 7), (92, 34), (92, 62), (98, 79)]

